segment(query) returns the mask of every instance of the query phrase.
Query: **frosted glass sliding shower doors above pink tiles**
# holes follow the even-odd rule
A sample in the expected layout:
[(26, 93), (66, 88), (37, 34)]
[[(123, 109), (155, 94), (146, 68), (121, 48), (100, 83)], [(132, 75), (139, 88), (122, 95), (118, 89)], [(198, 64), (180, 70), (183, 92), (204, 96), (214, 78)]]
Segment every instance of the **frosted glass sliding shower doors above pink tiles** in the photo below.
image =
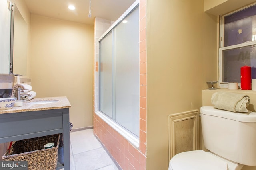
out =
[(139, 137), (138, 6), (100, 39), (99, 44), (99, 110)]

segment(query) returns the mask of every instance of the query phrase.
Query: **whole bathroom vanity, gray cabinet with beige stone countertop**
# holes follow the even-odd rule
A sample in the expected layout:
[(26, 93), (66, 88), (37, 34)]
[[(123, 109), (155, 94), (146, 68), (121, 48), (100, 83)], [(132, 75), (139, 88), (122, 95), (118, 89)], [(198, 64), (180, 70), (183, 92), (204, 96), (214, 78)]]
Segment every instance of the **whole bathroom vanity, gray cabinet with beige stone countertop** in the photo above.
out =
[(69, 170), (69, 108), (66, 97), (34, 98), (23, 106), (0, 110), (0, 143), (63, 133), (64, 165)]

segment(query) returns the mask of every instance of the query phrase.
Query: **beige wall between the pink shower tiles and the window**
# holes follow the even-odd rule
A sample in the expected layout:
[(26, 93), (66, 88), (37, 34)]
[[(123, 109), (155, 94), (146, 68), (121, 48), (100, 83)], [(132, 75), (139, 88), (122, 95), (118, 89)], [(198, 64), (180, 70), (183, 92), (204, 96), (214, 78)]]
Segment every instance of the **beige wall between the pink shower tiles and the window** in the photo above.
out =
[(217, 80), (217, 16), (203, 0), (147, 0), (147, 170), (168, 168), (168, 115), (200, 109)]

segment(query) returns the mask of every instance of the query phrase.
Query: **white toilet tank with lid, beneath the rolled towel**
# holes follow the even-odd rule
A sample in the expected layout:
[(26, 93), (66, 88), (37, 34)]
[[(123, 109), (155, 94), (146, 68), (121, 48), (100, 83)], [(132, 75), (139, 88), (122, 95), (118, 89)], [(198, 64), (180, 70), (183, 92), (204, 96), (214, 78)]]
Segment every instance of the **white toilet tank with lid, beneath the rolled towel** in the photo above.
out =
[(206, 149), (233, 162), (256, 166), (256, 113), (234, 113), (202, 106)]

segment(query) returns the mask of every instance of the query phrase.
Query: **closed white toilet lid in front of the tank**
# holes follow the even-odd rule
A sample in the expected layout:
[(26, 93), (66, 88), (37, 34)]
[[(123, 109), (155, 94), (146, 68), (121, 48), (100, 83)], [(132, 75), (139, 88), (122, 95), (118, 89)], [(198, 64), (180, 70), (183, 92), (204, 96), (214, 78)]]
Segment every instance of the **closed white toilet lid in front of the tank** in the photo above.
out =
[(176, 154), (169, 166), (172, 170), (228, 170), (227, 162), (203, 150)]

